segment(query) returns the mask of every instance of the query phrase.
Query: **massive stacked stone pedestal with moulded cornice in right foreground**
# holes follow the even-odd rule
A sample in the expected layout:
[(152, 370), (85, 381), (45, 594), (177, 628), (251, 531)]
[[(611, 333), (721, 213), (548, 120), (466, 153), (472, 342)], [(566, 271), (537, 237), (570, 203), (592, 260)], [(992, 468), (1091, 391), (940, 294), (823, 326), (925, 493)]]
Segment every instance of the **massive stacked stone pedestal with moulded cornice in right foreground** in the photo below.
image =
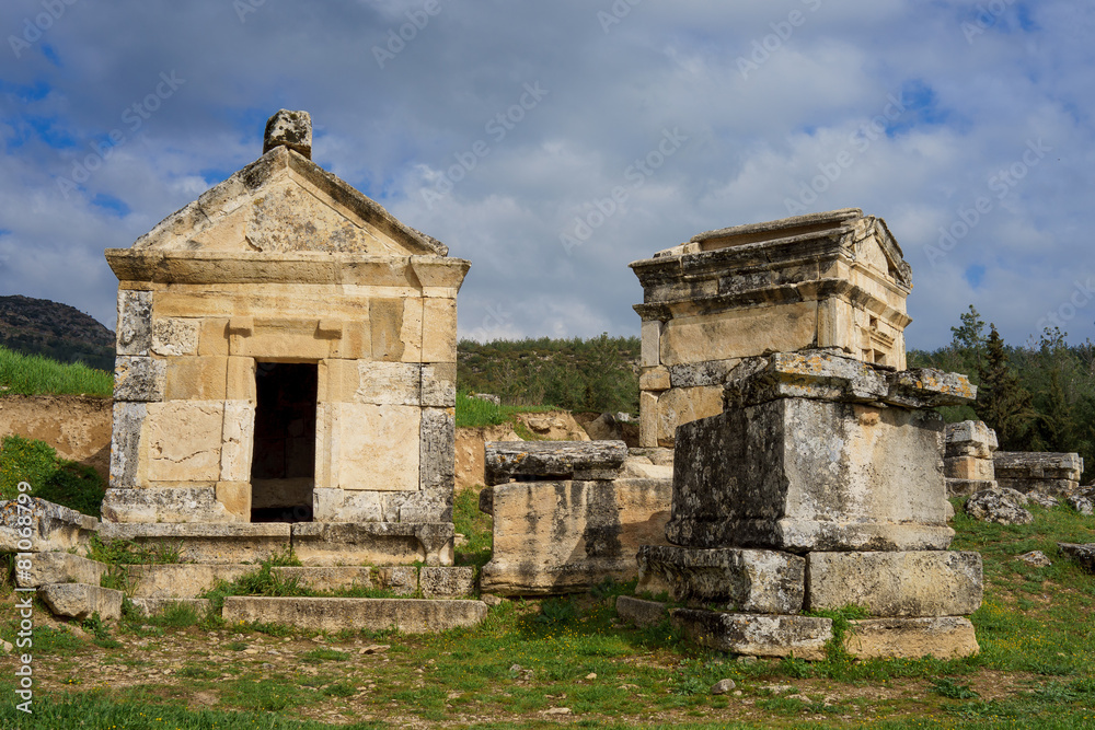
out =
[(638, 590), (668, 590), (689, 636), (739, 653), (821, 659), (831, 622), (800, 612), (848, 604), (869, 615), (854, 656), (976, 652), (981, 559), (947, 551), (933, 410), (972, 401), (968, 380), (804, 350), (745, 360), (725, 394), (678, 430), (673, 547), (641, 549)]

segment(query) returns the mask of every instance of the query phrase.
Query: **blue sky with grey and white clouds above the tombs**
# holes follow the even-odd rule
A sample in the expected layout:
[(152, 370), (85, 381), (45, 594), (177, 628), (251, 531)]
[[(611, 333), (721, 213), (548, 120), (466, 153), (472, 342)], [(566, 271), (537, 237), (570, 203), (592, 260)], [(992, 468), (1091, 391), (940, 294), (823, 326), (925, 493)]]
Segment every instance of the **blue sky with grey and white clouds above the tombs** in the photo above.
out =
[(318, 163), (472, 262), (462, 336), (637, 334), (630, 262), (858, 207), (913, 268), (910, 347), (969, 304), (1014, 344), (1082, 341), (1093, 31), (1064, 0), (5, 0), (0, 292), (113, 327), (103, 248), (256, 159), (286, 107)]

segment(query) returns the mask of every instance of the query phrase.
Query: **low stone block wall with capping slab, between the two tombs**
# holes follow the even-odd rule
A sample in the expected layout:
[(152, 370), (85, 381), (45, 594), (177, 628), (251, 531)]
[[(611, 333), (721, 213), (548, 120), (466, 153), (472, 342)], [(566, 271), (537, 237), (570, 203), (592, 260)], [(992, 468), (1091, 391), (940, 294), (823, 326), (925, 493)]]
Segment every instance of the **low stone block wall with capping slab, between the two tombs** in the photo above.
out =
[(494, 551), (481, 589), (543, 595), (634, 578), (638, 547), (665, 543), (672, 467), (658, 451), (629, 454), (622, 441), (487, 444), (491, 486), (480, 505), (494, 518)]

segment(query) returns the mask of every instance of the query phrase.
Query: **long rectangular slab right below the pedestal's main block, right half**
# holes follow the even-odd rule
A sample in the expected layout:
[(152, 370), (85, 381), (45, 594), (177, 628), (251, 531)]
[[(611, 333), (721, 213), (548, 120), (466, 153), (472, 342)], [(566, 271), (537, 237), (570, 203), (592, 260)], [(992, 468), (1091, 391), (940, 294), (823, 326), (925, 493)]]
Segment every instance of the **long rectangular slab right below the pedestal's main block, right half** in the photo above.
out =
[(960, 616), (981, 606), (981, 555), (949, 551), (810, 553), (806, 607), (849, 604), (872, 616)]

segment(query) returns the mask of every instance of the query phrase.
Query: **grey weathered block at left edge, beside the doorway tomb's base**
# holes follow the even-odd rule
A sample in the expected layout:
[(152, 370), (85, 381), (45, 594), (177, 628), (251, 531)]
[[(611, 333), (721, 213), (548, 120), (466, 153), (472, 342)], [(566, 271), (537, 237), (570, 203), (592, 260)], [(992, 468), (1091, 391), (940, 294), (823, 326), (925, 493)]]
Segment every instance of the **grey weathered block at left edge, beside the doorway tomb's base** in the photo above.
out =
[[(23, 534), (20, 519), (31, 517), (31, 534)], [(0, 552), (49, 553), (88, 544), (99, 529), (99, 520), (60, 505), (32, 497), (30, 503), (18, 499), (0, 501)]]

